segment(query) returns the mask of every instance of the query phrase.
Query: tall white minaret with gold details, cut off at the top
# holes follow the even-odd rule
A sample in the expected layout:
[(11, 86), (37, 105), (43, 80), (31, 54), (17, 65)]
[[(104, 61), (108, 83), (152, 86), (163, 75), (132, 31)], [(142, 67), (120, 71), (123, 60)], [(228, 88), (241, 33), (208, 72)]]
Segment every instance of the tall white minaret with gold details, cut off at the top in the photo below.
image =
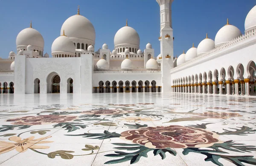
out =
[(162, 92), (172, 92), (170, 70), (173, 68), (173, 30), (172, 2), (174, 0), (157, 0), (160, 6), (160, 46), (162, 71)]

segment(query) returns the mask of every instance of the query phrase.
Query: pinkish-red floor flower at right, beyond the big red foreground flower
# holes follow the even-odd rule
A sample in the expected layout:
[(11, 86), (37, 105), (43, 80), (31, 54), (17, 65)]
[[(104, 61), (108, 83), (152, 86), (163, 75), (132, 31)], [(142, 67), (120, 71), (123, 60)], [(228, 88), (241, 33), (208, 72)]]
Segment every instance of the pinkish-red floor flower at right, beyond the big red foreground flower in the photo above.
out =
[(204, 112), (204, 113), (195, 113), (193, 117), (207, 117), (207, 118), (215, 118), (215, 119), (228, 119), (230, 117), (242, 117), (242, 115), (238, 113), (231, 112)]

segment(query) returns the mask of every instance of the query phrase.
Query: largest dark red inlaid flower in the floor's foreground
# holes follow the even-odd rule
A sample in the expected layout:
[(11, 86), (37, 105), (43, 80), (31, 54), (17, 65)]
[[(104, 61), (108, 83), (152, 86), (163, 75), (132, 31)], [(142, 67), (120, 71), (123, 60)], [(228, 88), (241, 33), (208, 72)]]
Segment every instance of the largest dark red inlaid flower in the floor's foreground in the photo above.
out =
[(204, 148), (219, 142), (218, 135), (214, 132), (177, 125), (128, 130), (122, 132), (120, 138), (155, 149)]

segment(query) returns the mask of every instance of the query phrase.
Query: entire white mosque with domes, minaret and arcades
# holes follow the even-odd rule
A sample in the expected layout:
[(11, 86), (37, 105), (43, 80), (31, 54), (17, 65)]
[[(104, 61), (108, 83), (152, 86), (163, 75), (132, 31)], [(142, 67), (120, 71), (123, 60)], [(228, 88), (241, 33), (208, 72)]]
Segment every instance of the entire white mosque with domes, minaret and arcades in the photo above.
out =
[[(116, 32), (114, 49), (95, 50), (93, 24), (80, 14), (69, 17), (52, 53), (32, 27), (17, 35), (16, 52), (0, 58), (0, 93), (140, 93), (173, 92), (253, 95), (256, 83), (256, 6), (247, 14), (242, 33), (227, 20), (212, 40), (206, 34), (178, 58), (173, 56), (172, 2), (160, 6), (160, 54), (126, 25)], [(182, 51), (181, 51), (182, 52)]]

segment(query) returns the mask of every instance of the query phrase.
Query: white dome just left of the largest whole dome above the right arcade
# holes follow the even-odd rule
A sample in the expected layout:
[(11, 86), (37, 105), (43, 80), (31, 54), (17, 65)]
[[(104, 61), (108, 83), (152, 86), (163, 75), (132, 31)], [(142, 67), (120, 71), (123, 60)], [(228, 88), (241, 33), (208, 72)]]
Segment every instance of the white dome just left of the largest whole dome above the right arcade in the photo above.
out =
[(212, 39), (208, 38), (208, 35), (206, 35), (206, 38), (198, 44), (197, 54), (198, 55), (204, 54), (214, 48), (215, 48), (214, 41)]

